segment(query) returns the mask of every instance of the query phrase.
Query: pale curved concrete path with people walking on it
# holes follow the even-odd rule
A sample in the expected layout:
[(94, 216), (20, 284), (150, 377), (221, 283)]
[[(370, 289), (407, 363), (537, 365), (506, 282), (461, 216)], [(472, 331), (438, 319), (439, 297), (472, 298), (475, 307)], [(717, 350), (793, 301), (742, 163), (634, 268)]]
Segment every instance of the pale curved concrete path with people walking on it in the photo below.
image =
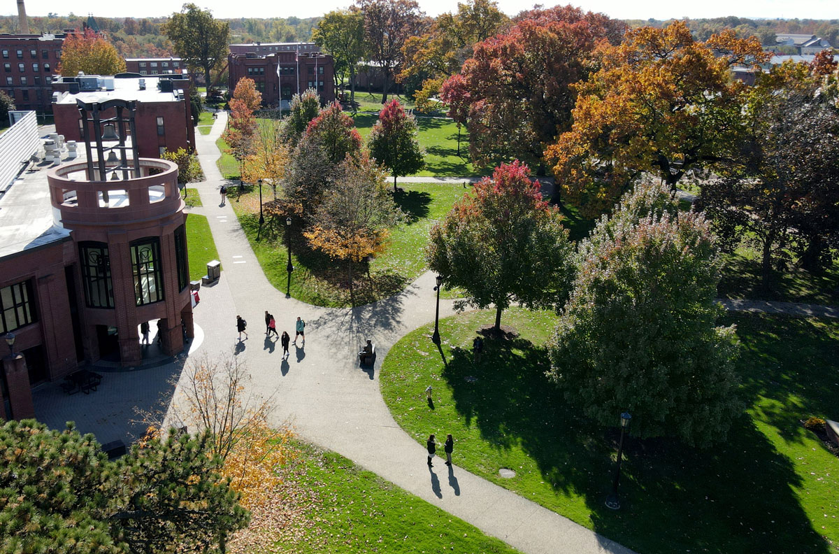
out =
[[(219, 113), (208, 135), (196, 136), (206, 180), (196, 187), (209, 219), (223, 267), (221, 280), (201, 289), (195, 321), (206, 337), (202, 351), (230, 353), (237, 344), (235, 316), (248, 320), (248, 340), (239, 356), (247, 360), (255, 389), (274, 395), (276, 423), (290, 421), (306, 440), (362, 465), (403, 489), (456, 515), (491, 536), (529, 554), (629, 554), (614, 541), (507, 489), (467, 473), (448, 471), (443, 463), (430, 470), (425, 448), (393, 421), (379, 393), (378, 370), (388, 349), (406, 332), (433, 321), (434, 276), (426, 273), (406, 290), (383, 301), (354, 309), (330, 309), (287, 299), (265, 279), (237, 223), (228, 199), (219, 206), (223, 180), (216, 168), (216, 139), (227, 114)], [(294, 278), (294, 277), (292, 277)], [(453, 313), (452, 301), (441, 301), (441, 316)], [(294, 320), (307, 323), (305, 348), (291, 346), (282, 361), (279, 343), (265, 340), (263, 312), (274, 314), (277, 327), (294, 336)], [(377, 345), (375, 367), (359, 368), (357, 351), (365, 338)], [(300, 342), (299, 342), (300, 343)], [(430, 349), (432, 344), (429, 342)], [(418, 405), (425, 405), (418, 399)], [(430, 429), (438, 436), (445, 429)], [(455, 456), (456, 460), (456, 456)]]

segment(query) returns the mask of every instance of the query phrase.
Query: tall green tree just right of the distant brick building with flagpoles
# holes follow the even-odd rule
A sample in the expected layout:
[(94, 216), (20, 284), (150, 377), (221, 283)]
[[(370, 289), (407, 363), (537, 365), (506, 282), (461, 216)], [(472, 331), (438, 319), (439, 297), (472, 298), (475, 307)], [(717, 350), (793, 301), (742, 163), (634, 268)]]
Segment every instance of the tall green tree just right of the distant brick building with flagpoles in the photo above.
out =
[[(312, 33), (312, 39), (326, 48), (335, 60), (336, 88), (338, 75), (350, 76), (350, 105), (356, 101), (356, 67), (364, 55), (364, 14), (357, 7), (326, 13)], [(342, 81), (342, 79), (341, 79)]]

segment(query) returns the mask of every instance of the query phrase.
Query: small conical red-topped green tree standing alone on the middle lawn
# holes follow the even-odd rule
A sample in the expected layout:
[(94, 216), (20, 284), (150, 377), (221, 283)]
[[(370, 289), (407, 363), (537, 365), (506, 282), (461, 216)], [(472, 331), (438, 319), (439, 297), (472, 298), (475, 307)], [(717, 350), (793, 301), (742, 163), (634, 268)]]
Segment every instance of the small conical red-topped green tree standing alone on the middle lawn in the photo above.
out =
[(370, 154), (393, 173), (393, 192), (396, 177), (409, 175), (425, 166), (425, 151), (417, 140), (417, 122), (405, 113), (396, 98), (382, 107), (378, 121), (367, 138)]

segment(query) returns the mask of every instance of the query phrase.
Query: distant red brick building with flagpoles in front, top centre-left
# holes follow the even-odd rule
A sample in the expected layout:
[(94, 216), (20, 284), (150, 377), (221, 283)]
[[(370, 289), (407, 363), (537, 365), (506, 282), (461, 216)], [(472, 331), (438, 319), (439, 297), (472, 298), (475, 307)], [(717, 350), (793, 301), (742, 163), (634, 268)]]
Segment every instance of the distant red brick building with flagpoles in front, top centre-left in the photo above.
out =
[(322, 102), (335, 100), (332, 56), (314, 43), (231, 44), (227, 71), (231, 92), (242, 77), (253, 79), (268, 107), (287, 109), (294, 94), (309, 88)]

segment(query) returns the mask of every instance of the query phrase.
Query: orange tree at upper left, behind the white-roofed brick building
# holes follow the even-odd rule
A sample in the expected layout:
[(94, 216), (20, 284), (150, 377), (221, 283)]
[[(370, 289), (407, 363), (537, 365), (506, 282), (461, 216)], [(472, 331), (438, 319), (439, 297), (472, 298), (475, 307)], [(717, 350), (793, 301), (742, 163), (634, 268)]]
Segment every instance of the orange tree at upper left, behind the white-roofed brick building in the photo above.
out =
[(67, 35), (61, 46), (58, 71), (68, 77), (78, 75), (79, 71), (86, 75), (114, 75), (125, 71), (125, 60), (102, 34), (85, 29), (82, 34)]

